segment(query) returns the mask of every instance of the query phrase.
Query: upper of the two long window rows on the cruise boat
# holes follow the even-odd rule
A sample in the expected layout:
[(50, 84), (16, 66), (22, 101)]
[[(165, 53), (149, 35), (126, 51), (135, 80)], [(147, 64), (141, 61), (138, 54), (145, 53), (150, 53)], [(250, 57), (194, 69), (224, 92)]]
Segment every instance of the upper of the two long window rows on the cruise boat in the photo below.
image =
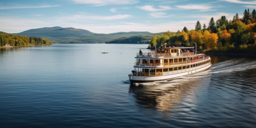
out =
[[(163, 59), (164, 63), (172, 63), (172, 62), (182, 62), (182, 61), (190, 61), (195, 59), (201, 59), (204, 58), (204, 55), (197, 56), (197, 57), (184, 57), (184, 58), (174, 58), (174, 59)], [(153, 59), (137, 59), (137, 63), (140, 63), (142, 60), (142, 63), (160, 63), (159, 60), (153, 60)]]

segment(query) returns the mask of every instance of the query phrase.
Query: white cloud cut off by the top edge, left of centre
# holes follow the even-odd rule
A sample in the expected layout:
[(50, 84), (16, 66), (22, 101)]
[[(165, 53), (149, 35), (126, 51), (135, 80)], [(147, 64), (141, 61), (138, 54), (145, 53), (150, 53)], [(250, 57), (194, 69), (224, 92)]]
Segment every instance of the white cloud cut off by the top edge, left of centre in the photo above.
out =
[(92, 4), (95, 6), (104, 6), (109, 4), (135, 4), (138, 0), (72, 0), (76, 4)]

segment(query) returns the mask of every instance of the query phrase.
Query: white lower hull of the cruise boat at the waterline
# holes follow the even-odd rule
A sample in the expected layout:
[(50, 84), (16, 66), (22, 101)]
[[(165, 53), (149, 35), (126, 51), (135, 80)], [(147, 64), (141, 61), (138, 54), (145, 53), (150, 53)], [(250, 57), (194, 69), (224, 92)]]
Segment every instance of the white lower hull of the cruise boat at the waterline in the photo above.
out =
[(171, 75), (163, 75), (163, 76), (133, 76), (132, 74), (128, 75), (129, 80), (131, 83), (145, 83), (145, 82), (154, 82), (154, 81), (163, 81), (163, 80), (170, 80), (176, 77), (185, 76), (185, 75), (191, 75), (195, 74), (204, 70), (209, 69), (212, 66), (212, 64), (209, 64), (205, 67), (198, 68), (198, 69), (190, 69), (189, 71), (182, 72), (182, 73), (176, 73)]

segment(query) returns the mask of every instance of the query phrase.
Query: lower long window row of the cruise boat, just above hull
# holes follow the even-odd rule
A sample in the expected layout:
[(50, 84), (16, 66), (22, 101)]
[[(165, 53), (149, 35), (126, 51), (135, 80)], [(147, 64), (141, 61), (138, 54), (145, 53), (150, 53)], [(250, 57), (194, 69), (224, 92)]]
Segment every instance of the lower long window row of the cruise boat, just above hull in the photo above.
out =
[(179, 66), (179, 67), (173, 67), (173, 68), (160, 68), (160, 69), (143, 69), (143, 72), (168, 72), (168, 71), (176, 71), (176, 70), (184, 70), (184, 69), (188, 69), (188, 68), (194, 68), (203, 64), (207, 64), (211, 62), (211, 60), (208, 61), (204, 61), (201, 63), (197, 63), (197, 64), (191, 64), (191, 65), (186, 65), (186, 66)]

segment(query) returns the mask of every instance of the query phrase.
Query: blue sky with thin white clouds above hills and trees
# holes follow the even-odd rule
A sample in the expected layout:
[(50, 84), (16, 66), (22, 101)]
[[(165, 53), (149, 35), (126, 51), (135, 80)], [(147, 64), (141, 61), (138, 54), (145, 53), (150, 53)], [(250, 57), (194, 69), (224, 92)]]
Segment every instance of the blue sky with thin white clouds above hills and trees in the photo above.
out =
[(0, 31), (19, 33), (43, 27), (73, 27), (94, 33), (151, 33), (208, 25), (222, 15), (228, 20), (252, 0), (0, 0)]

